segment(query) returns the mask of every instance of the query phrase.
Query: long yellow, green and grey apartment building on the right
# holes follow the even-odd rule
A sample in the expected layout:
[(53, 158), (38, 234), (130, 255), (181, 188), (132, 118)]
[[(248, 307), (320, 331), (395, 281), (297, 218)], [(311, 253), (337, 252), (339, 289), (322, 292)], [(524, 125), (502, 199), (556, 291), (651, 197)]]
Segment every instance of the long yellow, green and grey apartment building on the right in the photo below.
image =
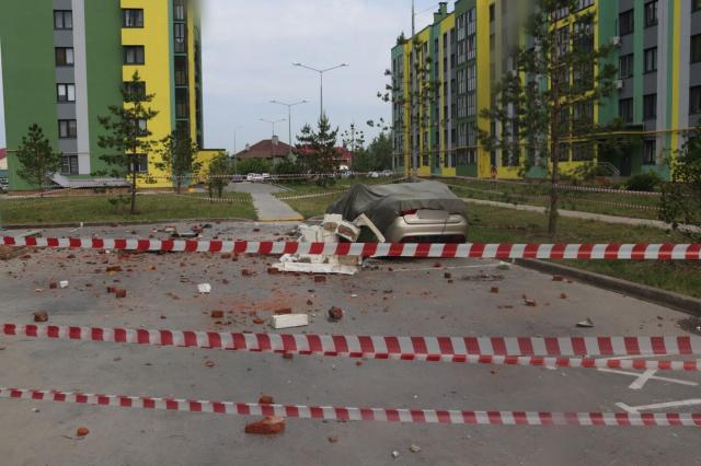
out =
[[(478, 138), (480, 130), (498, 135), (480, 113), (492, 106), (494, 83), (513, 69), (513, 47), (529, 40), (524, 19), (533, 8), (532, 1), (457, 0), (449, 12), (444, 2), (413, 40), (400, 37), (392, 49), (395, 170), (424, 176), (547, 176), (544, 167), (522, 170), (525, 150), (517, 158), (490, 152)], [(594, 14), (594, 47), (614, 46), (607, 60), (620, 74), (614, 95), (589, 112), (595, 123), (620, 118), (633, 144), (622, 154), (573, 144), (563, 152), (561, 168), (586, 163), (614, 176), (652, 171), (669, 177), (669, 161), (701, 116), (701, 1), (581, 0), (577, 11), (561, 18), (582, 12)], [(421, 92), (422, 80), (430, 82), (430, 98)]]

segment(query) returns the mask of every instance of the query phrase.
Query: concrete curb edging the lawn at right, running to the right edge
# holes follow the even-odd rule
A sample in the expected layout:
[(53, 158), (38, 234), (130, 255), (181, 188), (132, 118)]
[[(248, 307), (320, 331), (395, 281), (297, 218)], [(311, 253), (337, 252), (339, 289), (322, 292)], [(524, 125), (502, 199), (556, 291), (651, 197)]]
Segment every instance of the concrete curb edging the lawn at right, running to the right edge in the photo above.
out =
[(576, 279), (583, 283), (593, 284), (608, 291), (613, 291), (616, 293), (636, 298), (654, 304), (660, 304), (681, 311), (685, 314), (701, 317), (701, 300), (687, 296), (685, 294), (665, 291), (646, 284), (634, 283), (632, 281), (607, 277), (601, 273), (575, 269), (573, 267), (542, 260), (516, 259), (516, 265), (544, 273), (562, 275), (564, 277)]

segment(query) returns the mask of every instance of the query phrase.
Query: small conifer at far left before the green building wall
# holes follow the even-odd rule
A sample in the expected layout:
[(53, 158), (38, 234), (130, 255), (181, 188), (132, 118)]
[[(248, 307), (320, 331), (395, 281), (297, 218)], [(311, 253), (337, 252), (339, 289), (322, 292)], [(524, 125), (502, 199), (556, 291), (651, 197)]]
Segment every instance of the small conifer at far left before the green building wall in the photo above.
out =
[(54, 152), (37, 124), (32, 125), (27, 135), (22, 137), (16, 156), (20, 163), (18, 175), (32, 186), (37, 186), (44, 196), (44, 186), (61, 166), (61, 154)]

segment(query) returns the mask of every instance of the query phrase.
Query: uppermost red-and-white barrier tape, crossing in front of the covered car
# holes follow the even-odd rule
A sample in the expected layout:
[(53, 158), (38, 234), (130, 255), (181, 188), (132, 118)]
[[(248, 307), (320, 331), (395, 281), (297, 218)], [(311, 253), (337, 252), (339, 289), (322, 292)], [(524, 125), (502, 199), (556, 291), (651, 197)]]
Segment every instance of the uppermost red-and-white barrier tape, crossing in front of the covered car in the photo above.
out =
[(391, 244), (0, 236), (0, 246), (361, 257), (701, 260), (701, 244)]

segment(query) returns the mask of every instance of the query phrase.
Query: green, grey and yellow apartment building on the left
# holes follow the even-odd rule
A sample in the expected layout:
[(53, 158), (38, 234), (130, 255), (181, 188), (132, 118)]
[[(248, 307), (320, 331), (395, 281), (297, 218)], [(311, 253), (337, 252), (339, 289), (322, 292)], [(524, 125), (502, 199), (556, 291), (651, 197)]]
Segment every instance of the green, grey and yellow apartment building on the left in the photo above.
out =
[[(204, 145), (202, 40), (197, 0), (27, 0), (0, 4), (0, 43), (11, 190), (32, 189), (16, 174), (13, 151), (38, 124), (62, 153), (61, 178), (108, 171), (100, 155), (99, 116), (122, 105), (120, 89), (138, 71), (152, 140), (174, 130)], [(158, 154), (139, 171), (169, 187)]]

